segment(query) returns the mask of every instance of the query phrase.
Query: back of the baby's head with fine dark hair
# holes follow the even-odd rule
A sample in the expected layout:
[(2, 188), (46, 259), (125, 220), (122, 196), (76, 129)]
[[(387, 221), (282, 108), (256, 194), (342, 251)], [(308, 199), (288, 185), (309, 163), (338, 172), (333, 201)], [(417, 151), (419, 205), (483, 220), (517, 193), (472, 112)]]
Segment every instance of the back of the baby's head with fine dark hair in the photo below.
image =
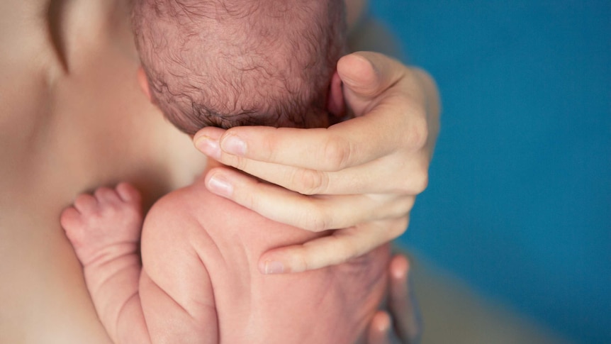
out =
[(344, 0), (135, 0), (133, 26), (150, 97), (185, 133), (331, 123)]

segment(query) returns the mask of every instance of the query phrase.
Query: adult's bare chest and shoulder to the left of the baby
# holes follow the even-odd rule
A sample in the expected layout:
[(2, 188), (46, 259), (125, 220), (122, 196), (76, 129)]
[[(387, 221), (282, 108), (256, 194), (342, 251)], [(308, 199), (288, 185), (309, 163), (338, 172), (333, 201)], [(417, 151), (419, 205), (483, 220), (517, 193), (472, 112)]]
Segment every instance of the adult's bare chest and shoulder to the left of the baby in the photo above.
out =
[(146, 209), (206, 160), (140, 92), (126, 1), (1, 1), (0, 44), (0, 343), (111, 343), (61, 210), (121, 180)]

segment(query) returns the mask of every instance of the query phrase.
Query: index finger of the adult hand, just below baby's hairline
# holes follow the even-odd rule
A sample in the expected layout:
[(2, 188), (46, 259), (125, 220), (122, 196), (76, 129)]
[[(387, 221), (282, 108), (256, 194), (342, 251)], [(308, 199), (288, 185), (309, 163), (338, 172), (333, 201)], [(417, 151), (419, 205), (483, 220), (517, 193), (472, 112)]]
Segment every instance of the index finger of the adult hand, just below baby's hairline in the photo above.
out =
[(403, 148), (403, 140), (410, 128), (405, 123), (405, 114), (398, 111), (402, 110), (380, 105), (369, 116), (330, 128), (242, 126), (231, 128), (220, 137), (218, 128), (203, 128), (197, 133), (195, 144), (204, 150), (206, 141), (213, 140), (223, 152), (245, 159), (311, 170), (339, 171)]

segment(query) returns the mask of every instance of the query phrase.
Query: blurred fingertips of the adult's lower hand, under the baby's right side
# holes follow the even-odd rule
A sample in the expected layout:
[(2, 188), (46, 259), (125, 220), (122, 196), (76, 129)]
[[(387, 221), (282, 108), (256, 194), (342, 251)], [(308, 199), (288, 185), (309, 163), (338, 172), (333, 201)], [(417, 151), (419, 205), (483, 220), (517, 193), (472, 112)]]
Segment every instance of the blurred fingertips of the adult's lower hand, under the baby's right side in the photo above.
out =
[(388, 314), (378, 311), (369, 323), (367, 344), (417, 344), (422, 326), (413, 290), (409, 282), (410, 264), (396, 255), (388, 267)]

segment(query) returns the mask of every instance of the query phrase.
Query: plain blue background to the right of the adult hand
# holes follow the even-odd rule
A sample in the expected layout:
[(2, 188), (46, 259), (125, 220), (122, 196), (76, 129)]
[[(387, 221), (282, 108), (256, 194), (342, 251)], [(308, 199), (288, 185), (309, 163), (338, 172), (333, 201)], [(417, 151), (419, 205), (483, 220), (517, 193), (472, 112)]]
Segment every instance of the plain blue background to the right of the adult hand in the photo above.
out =
[(442, 94), (400, 239), (579, 343), (611, 343), (611, 1), (371, 1)]

